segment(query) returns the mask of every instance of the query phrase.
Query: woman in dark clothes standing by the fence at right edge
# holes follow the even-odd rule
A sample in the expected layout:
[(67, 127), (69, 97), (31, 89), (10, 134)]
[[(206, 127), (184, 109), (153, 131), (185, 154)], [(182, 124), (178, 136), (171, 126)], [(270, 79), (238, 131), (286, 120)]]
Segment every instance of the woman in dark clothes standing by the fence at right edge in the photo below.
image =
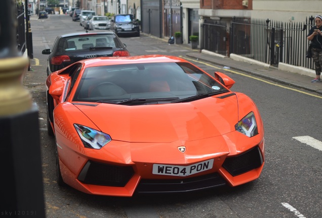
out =
[(321, 82), (320, 74), (322, 68), (322, 16), (316, 15), (313, 26), (307, 34), (307, 39), (311, 41), (312, 59), (315, 65), (316, 78), (311, 82)]

